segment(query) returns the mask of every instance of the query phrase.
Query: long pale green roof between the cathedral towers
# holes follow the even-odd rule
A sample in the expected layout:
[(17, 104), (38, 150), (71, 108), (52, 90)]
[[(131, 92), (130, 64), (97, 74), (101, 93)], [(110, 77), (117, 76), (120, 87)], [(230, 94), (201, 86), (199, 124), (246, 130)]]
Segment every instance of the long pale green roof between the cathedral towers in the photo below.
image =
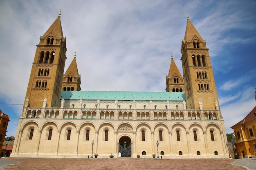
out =
[(184, 92), (134, 92), (134, 91), (61, 91), (61, 99), (67, 100), (152, 100), (183, 101)]

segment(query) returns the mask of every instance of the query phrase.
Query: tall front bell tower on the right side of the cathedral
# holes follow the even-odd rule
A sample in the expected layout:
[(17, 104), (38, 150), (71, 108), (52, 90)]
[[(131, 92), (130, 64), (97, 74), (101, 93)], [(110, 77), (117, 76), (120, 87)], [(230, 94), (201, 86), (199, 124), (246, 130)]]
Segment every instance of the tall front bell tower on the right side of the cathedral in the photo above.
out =
[(187, 25), (182, 40), (182, 69), (188, 109), (216, 109), (218, 95), (206, 41), (195, 29), (187, 13)]

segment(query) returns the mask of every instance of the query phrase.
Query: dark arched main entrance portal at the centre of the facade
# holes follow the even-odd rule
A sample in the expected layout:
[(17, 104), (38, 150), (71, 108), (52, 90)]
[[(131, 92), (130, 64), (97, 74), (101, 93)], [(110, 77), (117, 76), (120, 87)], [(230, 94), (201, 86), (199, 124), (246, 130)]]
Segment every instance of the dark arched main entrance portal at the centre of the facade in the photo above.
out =
[(132, 141), (130, 137), (123, 136), (119, 139), (118, 152), (121, 153), (121, 157), (131, 157), (132, 156)]

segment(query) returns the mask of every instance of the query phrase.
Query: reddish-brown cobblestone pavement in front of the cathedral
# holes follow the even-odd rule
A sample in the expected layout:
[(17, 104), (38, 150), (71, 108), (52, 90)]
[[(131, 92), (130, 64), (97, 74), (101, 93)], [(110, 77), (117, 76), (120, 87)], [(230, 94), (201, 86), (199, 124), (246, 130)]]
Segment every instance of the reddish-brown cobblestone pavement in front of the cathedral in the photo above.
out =
[[(57, 159), (57, 158), (5, 158), (0, 159), (0, 166), (10, 161), (16, 161), (16, 165), (7, 165), (6, 170), (246, 170), (242, 166), (252, 165), (256, 167), (256, 159), (250, 162), (248, 159)], [(242, 160), (242, 161), (240, 161)], [(235, 162), (234, 162), (235, 161)], [(243, 161), (247, 161), (245, 165)], [(231, 165), (233, 162), (240, 166)], [(6, 165), (6, 164), (5, 164)], [(247, 167), (247, 166), (246, 166)]]

